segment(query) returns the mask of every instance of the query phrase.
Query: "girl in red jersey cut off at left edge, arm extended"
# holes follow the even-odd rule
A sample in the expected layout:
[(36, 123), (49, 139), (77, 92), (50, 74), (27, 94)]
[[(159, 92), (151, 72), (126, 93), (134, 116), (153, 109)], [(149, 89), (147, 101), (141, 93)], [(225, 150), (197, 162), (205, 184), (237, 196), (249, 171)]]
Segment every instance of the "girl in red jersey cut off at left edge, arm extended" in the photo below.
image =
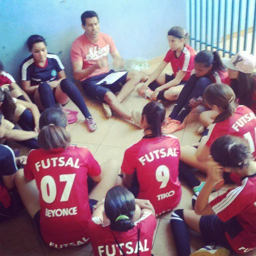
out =
[(4, 71), (4, 65), (2, 61), (0, 61), (0, 87), (10, 90), (12, 97), (31, 102), (26, 92), (21, 90), (18, 84), (16, 84), (14, 78)]

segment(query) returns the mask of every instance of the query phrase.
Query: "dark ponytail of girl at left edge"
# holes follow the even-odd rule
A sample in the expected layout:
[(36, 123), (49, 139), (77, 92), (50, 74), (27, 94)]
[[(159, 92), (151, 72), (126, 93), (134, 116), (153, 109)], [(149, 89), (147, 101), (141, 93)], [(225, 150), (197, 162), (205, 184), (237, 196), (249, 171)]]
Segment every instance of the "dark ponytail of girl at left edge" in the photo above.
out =
[(3, 89), (3, 87), (0, 87), (0, 102), (3, 102), (1, 105), (1, 110), (5, 119), (9, 120), (11, 123), (16, 123), (13, 118), (16, 110), (16, 104), (13, 101), (10, 92), (8, 92), (6, 89)]

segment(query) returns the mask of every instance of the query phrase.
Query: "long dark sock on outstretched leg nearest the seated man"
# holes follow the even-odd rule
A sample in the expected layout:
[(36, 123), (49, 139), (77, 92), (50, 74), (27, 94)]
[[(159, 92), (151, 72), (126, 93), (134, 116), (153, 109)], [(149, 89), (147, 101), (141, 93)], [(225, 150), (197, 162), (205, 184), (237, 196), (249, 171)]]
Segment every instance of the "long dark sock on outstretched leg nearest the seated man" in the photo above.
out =
[(74, 102), (74, 104), (77, 105), (79, 110), (81, 110), (85, 118), (92, 116), (84, 102), (84, 98), (81, 92), (78, 90), (77, 86), (73, 82), (69, 81), (68, 79), (63, 79), (61, 80), (60, 86), (61, 90), (65, 92)]

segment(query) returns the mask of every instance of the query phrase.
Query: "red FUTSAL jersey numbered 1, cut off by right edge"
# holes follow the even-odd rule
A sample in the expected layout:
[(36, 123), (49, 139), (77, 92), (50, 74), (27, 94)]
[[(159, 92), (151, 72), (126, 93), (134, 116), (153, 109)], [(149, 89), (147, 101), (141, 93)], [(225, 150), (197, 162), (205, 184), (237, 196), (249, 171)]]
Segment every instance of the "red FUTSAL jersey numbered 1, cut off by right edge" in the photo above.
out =
[[(233, 116), (222, 122), (210, 124), (208, 129), (208, 139), (205, 145), (209, 148), (221, 136), (233, 135), (246, 139), (253, 158), (256, 158), (256, 117), (251, 109), (240, 105)], [(231, 173), (230, 178), (240, 183), (240, 177), (237, 174)]]

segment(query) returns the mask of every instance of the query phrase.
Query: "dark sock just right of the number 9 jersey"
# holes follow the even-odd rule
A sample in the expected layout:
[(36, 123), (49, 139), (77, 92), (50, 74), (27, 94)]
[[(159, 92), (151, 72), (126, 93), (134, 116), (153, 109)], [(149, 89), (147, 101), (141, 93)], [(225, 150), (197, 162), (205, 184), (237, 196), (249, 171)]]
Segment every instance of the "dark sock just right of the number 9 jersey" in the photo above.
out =
[(186, 182), (191, 189), (201, 184), (192, 172), (192, 167), (182, 161), (179, 161), (179, 179)]

